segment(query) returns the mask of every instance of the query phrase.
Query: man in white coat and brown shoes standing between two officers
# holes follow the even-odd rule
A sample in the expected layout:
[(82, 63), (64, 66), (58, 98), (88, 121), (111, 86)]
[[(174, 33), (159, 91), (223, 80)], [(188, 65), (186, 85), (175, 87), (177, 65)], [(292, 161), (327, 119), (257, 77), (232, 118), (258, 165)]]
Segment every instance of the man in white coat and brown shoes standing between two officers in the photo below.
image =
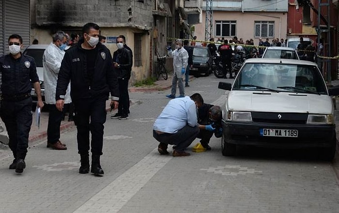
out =
[[(64, 32), (53, 35), (53, 42), (45, 49), (43, 57), (45, 100), (48, 104), (47, 147), (56, 150), (66, 150), (65, 144), (60, 141), (60, 125), (62, 112), (56, 108), (55, 92), (61, 62), (65, 54), (67, 37)], [(68, 84), (65, 103), (70, 103), (70, 84)]]

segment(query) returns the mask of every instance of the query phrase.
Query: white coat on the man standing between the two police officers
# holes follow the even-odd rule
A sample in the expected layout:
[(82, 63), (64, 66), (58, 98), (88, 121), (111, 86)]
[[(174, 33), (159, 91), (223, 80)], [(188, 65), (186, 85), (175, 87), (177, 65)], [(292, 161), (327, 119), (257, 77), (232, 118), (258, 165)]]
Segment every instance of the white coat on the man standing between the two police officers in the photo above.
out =
[[(55, 104), (55, 92), (57, 88), (58, 74), (65, 51), (59, 49), (55, 44), (50, 43), (45, 49), (43, 56), (44, 83), (45, 83), (45, 102), (46, 104)], [(71, 87), (68, 84), (65, 103), (72, 102), (70, 96)]]

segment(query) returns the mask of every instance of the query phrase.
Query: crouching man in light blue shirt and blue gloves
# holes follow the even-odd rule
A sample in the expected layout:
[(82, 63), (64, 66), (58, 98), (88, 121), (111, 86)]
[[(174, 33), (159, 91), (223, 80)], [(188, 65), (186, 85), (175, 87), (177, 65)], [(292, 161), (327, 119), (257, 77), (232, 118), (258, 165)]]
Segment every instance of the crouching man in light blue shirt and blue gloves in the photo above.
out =
[(191, 145), (199, 133), (198, 100), (192, 95), (170, 100), (153, 125), (153, 137), (160, 142), (160, 154), (169, 154), (168, 144), (175, 145), (173, 157), (189, 156), (185, 148)]

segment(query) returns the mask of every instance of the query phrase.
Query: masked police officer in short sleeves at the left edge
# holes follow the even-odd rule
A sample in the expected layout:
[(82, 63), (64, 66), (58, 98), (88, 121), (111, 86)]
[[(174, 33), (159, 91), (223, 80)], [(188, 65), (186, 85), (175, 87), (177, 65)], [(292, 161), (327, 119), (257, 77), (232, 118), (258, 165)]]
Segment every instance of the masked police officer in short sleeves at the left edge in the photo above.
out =
[(8, 45), (10, 54), (0, 57), (2, 75), (0, 116), (6, 125), (9, 147), (14, 157), (9, 169), (22, 173), (26, 168), (25, 157), (32, 124), (31, 82), (38, 97), (37, 106), (42, 108), (44, 103), (34, 59), (20, 52), (21, 36), (18, 34), (9, 36)]

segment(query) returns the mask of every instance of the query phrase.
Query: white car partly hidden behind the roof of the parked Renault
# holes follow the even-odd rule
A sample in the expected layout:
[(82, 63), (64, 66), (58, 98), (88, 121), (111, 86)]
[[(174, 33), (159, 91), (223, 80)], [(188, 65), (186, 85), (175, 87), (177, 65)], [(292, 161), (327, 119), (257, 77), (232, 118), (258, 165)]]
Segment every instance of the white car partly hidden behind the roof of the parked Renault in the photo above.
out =
[(298, 53), (293, 48), (268, 47), (262, 54), (262, 58), (284, 58), (299, 60)]

